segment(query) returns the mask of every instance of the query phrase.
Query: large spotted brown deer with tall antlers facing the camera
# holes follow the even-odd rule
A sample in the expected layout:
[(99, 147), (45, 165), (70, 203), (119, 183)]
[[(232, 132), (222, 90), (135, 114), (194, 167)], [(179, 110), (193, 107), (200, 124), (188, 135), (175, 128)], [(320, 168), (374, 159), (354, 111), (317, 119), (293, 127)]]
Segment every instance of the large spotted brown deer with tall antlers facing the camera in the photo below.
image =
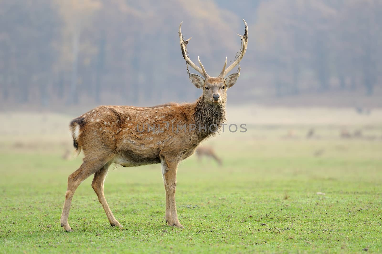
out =
[[(210, 77), (199, 56), (200, 68), (189, 59), (187, 44), (192, 37), (184, 39), (182, 23), (178, 30), (181, 53), (189, 79), (195, 87), (202, 89), (202, 95), (193, 103), (167, 103), (153, 107), (99, 106), (73, 119), (69, 125), (73, 146), (77, 155), (83, 151), (84, 158), (81, 166), (68, 176), (60, 219), (65, 231), (73, 231), (68, 215), (74, 192), (93, 174), (91, 186), (110, 225), (122, 228), (104, 195), (104, 181), (112, 163), (123, 167), (161, 164), (166, 195), (165, 222), (169, 226), (184, 228), (178, 220), (175, 204), (178, 164), (191, 156), (201, 141), (214, 136), (225, 122), (227, 89), (240, 76), (239, 62), (247, 50), (248, 26), (244, 21), (245, 33), (238, 34), (241, 48), (236, 59), (226, 68), (226, 57), (219, 76)], [(238, 71), (227, 76), (238, 64)], [(189, 66), (202, 76), (189, 74)]]

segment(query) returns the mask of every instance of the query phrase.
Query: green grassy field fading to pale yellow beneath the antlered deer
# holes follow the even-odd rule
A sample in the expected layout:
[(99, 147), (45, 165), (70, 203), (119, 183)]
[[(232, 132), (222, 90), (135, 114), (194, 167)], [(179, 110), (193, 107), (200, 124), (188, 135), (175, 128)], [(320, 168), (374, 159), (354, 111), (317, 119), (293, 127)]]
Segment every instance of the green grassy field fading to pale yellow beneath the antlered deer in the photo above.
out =
[[(65, 122), (66, 129), (68, 119), (56, 125)], [(124, 228), (110, 226), (90, 177), (73, 198), (73, 233), (60, 227), (60, 215), (66, 179), (82, 154), (63, 160), (70, 137), (52, 128), (0, 133), (2, 253), (382, 252), (378, 126), (363, 127), (369, 138), (353, 139), (339, 138), (336, 126), (319, 127), (320, 138), (313, 139), (304, 138), (308, 126), (222, 133), (207, 142), (222, 167), (191, 156), (178, 168), (176, 201), (185, 229), (165, 223), (160, 165), (110, 167), (105, 196)], [(291, 130), (293, 137), (286, 137)]]

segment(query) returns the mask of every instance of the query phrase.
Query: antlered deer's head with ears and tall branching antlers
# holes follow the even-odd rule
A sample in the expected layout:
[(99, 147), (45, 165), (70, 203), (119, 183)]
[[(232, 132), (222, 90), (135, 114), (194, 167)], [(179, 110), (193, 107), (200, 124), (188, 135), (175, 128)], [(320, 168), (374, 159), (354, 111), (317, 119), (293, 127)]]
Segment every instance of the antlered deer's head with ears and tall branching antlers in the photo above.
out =
[(203, 64), (201, 63), (199, 56), (197, 57), (197, 61), (200, 64), (199, 68), (196, 64), (194, 64), (188, 57), (187, 54), (187, 44), (190, 39), (185, 40), (183, 39), (182, 33), (181, 33), (181, 26), (182, 23), (179, 25), (179, 38), (180, 38), (180, 48), (182, 50), (183, 58), (186, 60), (187, 65), (190, 65), (192, 68), (194, 68), (197, 72), (199, 72), (201, 76), (196, 74), (190, 74), (190, 80), (191, 82), (197, 87), (203, 89), (203, 98), (206, 102), (209, 102), (211, 104), (220, 104), (224, 103), (227, 97), (227, 89), (231, 86), (235, 85), (236, 80), (240, 76), (240, 67), (238, 69), (238, 72), (233, 73), (229, 75), (228, 77), (224, 78), (228, 72), (230, 72), (233, 68), (235, 68), (236, 65), (241, 61), (243, 58), (246, 50), (247, 50), (247, 43), (248, 43), (248, 26), (245, 20), (243, 19), (245, 24), (245, 33), (244, 35), (239, 35), (241, 37), (241, 49), (240, 53), (238, 54), (235, 61), (228, 67), (227, 66), (227, 57), (225, 58), (225, 63), (222, 69), (222, 72), (220, 72), (218, 77), (210, 77), (206, 70), (204, 69)]

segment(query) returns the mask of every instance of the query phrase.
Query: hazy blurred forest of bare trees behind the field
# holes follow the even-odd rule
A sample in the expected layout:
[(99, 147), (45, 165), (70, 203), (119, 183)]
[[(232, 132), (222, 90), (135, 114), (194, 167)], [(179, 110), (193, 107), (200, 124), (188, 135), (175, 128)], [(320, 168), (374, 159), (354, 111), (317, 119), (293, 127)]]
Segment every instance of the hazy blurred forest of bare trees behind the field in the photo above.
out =
[(240, 49), (241, 18), (233, 103), (382, 94), (380, 0), (2, 0), (0, 108), (193, 101), (179, 23), (191, 60), (217, 76)]

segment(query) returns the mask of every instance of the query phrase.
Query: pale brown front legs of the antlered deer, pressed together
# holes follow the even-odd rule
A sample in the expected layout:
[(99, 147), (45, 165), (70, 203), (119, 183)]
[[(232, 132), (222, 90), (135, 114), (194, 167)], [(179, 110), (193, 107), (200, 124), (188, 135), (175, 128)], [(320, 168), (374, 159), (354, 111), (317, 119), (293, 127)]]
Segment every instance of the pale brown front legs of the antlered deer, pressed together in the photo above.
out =
[(165, 219), (168, 225), (177, 228), (184, 228), (178, 220), (175, 204), (175, 189), (176, 189), (176, 170), (178, 163), (168, 163), (162, 161), (163, 181), (166, 190), (166, 215)]

